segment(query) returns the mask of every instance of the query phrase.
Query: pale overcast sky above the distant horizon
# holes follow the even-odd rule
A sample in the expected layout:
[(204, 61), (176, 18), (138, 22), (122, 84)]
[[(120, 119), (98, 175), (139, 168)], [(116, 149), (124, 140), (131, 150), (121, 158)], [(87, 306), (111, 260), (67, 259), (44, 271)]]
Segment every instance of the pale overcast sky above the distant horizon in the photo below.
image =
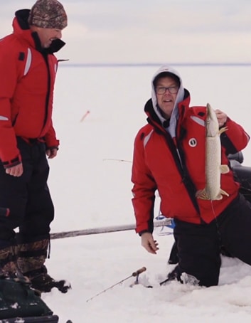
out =
[[(0, 37), (17, 9), (1, 3)], [(249, 62), (250, 0), (64, 0), (70, 63)]]

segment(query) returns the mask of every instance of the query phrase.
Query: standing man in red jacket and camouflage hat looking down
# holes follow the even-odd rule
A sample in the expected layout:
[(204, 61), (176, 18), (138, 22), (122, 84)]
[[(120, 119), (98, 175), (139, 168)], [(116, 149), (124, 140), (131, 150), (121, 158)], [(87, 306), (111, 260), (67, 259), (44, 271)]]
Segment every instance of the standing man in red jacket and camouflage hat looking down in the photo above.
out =
[(0, 41), (0, 207), (6, 210), (0, 217), (0, 270), (22, 272), (41, 292), (57, 287), (44, 265), (54, 217), (47, 157), (58, 152), (53, 53), (65, 45), (60, 38), (66, 26), (60, 2), (38, 0), (31, 10), (16, 11), (14, 32)]

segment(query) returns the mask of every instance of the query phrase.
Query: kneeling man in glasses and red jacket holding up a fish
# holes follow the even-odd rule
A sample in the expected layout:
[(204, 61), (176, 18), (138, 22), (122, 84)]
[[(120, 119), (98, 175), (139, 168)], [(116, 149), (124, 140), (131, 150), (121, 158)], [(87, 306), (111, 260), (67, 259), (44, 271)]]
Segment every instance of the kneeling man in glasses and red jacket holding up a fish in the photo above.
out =
[[(205, 188), (206, 107), (190, 107), (190, 94), (180, 75), (161, 67), (152, 80), (151, 99), (144, 111), (148, 124), (134, 142), (132, 203), (141, 244), (157, 252), (153, 219), (156, 190), (161, 213), (173, 218), (173, 235), (178, 247), (175, 277), (181, 282), (194, 278), (199, 285), (218, 285), (220, 250), (224, 246), (236, 258), (251, 265), (251, 206), (240, 194), (230, 169), (220, 175), (220, 189), (227, 195), (213, 200), (199, 198)], [(228, 154), (244, 149), (250, 137), (222, 111), (215, 110), (220, 134), (221, 164)], [(217, 121), (216, 121), (217, 122)]]

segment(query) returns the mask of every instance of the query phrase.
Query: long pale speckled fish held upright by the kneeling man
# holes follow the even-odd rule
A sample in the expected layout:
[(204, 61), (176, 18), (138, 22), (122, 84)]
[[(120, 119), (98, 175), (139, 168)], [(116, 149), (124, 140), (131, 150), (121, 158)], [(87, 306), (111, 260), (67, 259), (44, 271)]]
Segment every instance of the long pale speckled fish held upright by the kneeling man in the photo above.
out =
[(196, 197), (203, 200), (221, 200), (229, 194), (220, 188), (221, 174), (227, 174), (228, 165), (221, 165), (220, 134), (228, 127), (219, 129), (216, 113), (208, 103), (206, 105), (207, 119), (205, 124), (205, 188), (196, 192)]

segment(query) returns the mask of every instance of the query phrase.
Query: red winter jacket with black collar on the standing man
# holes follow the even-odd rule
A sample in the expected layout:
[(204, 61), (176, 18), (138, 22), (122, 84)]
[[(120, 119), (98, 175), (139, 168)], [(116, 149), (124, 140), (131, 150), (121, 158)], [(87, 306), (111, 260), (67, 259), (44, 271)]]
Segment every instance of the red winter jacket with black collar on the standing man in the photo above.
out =
[(65, 43), (41, 48), (31, 33), (29, 10), (16, 12), (14, 33), (0, 41), (0, 159), (5, 167), (21, 162), (16, 137), (40, 139), (58, 147), (53, 129), (53, 88), (58, 67), (53, 55)]

